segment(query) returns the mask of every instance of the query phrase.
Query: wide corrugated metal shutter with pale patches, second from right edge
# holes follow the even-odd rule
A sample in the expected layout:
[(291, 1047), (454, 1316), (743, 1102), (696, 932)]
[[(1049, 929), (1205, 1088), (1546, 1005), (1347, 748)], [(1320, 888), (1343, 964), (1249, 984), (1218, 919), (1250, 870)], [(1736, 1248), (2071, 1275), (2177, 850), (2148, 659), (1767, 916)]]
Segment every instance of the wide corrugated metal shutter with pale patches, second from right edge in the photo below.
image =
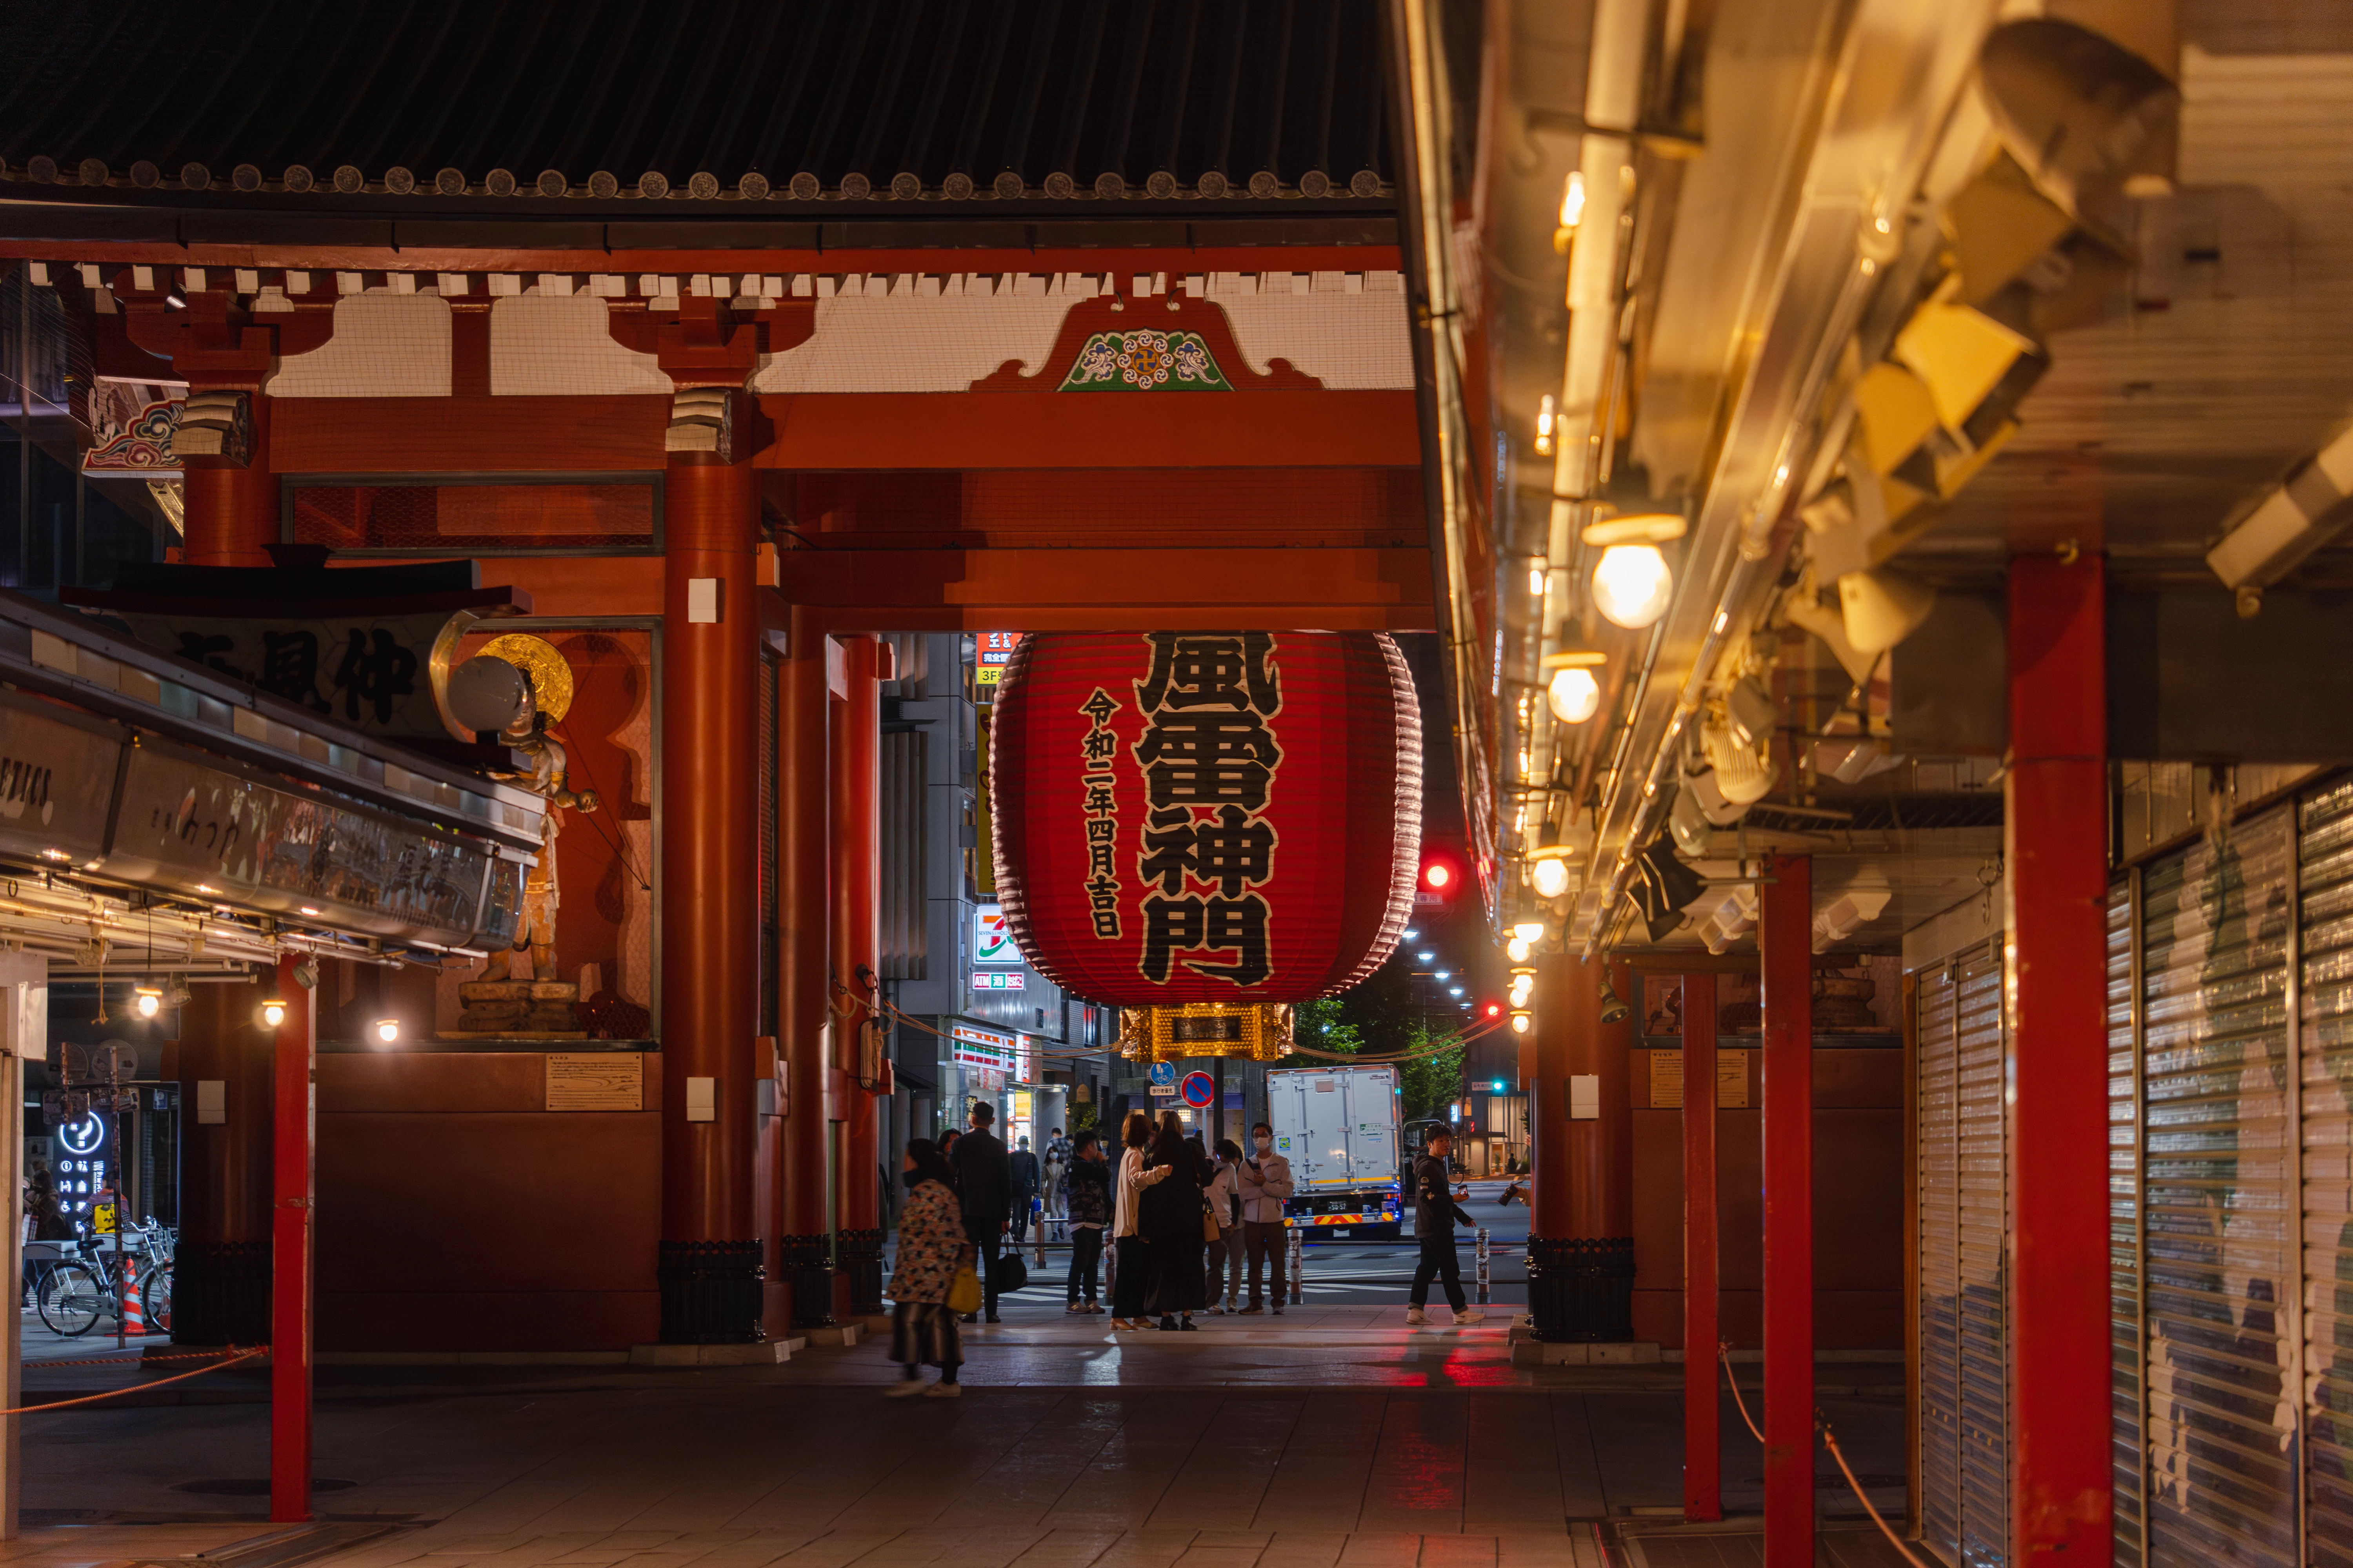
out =
[(2151, 863), (2148, 1561), (2297, 1559), (2289, 813)]

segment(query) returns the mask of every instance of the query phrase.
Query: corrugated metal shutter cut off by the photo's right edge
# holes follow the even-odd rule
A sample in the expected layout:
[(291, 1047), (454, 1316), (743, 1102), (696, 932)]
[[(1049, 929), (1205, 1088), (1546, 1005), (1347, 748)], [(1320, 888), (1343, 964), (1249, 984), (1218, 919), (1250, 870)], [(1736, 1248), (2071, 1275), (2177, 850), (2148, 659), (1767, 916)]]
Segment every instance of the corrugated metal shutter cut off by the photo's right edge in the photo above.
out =
[(2353, 785), (2304, 802), (2306, 1559), (2353, 1563)]

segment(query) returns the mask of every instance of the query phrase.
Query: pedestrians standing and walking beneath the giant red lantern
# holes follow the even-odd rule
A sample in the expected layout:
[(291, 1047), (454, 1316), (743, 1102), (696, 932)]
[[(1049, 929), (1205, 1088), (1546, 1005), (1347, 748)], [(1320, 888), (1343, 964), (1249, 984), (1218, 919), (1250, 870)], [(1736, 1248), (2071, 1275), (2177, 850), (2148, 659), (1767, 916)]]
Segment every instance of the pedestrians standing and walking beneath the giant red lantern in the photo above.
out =
[[(887, 1288), (894, 1302), (892, 1359), (904, 1368), (901, 1382), (887, 1389), (892, 1399), (962, 1394), (958, 1321), (979, 1316), (960, 1316), (951, 1307), (962, 1269), (974, 1269), (981, 1314), (998, 1321), (998, 1255), (1016, 1237), (1016, 1204), (1026, 1211), (1026, 1182), (1019, 1180), (1016, 1161), (1028, 1161), (1026, 1187), (1035, 1194), (1038, 1159), (1028, 1152), (1028, 1140), (1007, 1152), (991, 1131), (993, 1124), (995, 1107), (984, 1100), (972, 1107), (969, 1131), (951, 1131), (941, 1143), (915, 1138), (906, 1145), (901, 1180), (908, 1197), (899, 1213), (899, 1255)], [(1092, 1128), (1071, 1138), (1064, 1178), (1071, 1274), (1064, 1284), (1064, 1312), (1104, 1312), (1096, 1276), (1108, 1229), (1113, 1328), (1153, 1328), (1158, 1321), (1162, 1331), (1184, 1333), (1195, 1328), (1195, 1312), (1247, 1316), (1273, 1309), (1280, 1316), (1287, 1246), (1282, 1201), (1292, 1197), (1292, 1166), (1275, 1152), (1268, 1124), (1257, 1124), (1249, 1135), (1249, 1154), (1221, 1138), (1212, 1157), (1198, 1138), (1186, 1135), (1176, 1112), (1162, 1112), (1155, 1124), (1151, 1112), (1136, 1110), (1120, 1128), (1115, 1166)], [(1471, 1190), (1452, 1182), (1449, 1147), (1445, 1131), (1433, 1133), (1412, 1168), (1421, 1258), (1405, 1321), (1417, 1326), (1428, 1321), (1433, 1284), (1445, 1291), (1454, 1324), (1485, 1319), (1464, 1300), (1454, 1225), (1475, 1220), (1461, 1208)], [(1261, 1295), (1261, 1281), (1271, 1284), (1268, 1295)], [(936, 1366), (939, 1380), (922, 1382), (922, 1366)]]

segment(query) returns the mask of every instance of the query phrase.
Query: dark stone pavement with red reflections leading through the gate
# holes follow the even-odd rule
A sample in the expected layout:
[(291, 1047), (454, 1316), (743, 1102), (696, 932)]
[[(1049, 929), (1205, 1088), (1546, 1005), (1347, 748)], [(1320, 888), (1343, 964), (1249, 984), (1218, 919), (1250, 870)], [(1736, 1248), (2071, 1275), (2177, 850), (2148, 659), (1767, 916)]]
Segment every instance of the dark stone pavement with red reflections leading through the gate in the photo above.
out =
[[(1621, 1537), (1680, 1514), (1680, 1366), (1513, 1368), (1508, 1316), (1409, 1331), (1395, 1307), (1320, 1307), (1120, 1335), (1007, 1321), (967, 1331), (955, 1401), (880, 1399), (896, 1378), (880, 1342), (765, 1368), (322, 1366), (318, 1514), (395, 1533), (308, 1561), (1687, 1568), (1664, 1540), (1652, 1563)], [(1824, 1363), (1821, 1382), (1873, 1500), (1901, 1512), (1901, 1366)], [(238, 1568), (221, 1549), (271, 1528), (266, 1382), (181, 1387), (207, 1392), (24, 1418), (28, 1533), (0, 1566)], [(1824, 1514), (1859, 1514), (1828, 1458), (1821, 1474)], [(1727, 1399), (1732, 1514), (1760, 1507), (1758, 1476)], [(1875, 1535), (1840, 1542), (1826, 1561), (1878, 1568)], [(1722, 1535), (1706, 1554), (1744, 1547)]]

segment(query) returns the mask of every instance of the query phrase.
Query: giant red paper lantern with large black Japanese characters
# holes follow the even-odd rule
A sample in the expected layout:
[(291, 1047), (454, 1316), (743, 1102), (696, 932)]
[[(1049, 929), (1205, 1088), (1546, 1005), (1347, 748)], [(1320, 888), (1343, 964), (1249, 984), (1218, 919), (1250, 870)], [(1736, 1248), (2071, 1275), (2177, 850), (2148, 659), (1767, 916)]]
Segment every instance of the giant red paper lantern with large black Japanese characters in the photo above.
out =
[(1384, 632), (1045, 632), (998, 686), (998, 896), (1111, 1006), (1306, 1001), (1414, 907), (1421, 712)]

